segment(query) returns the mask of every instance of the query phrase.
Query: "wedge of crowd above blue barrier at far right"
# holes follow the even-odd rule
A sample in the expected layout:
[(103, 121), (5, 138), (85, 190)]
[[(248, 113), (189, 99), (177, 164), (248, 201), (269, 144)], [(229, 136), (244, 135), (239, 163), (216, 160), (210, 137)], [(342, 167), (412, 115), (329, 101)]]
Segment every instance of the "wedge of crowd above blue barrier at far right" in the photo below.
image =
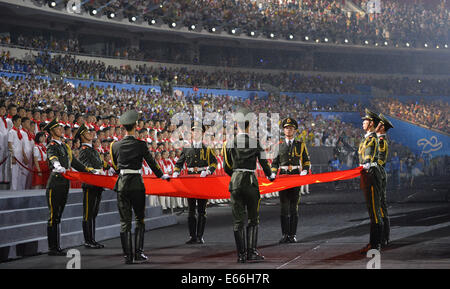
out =
[(389, 97), (376, 98), (373, 105), (387, 115), (450, 134), (450, 106), (447, 101), (401, 102)]

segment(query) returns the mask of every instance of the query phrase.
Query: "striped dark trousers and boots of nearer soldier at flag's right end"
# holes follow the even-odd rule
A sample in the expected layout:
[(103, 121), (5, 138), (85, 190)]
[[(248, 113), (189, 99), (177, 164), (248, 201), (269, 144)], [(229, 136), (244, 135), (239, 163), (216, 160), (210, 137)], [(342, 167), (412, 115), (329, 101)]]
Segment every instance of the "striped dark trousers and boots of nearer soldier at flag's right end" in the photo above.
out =
[(366, 199), (370, 217), (370, 245), (372, 248), (381, 244), (383, 219), (381, 215), (381, 174), (379, 168), (372, 167), (361, 173), (361, 189)]

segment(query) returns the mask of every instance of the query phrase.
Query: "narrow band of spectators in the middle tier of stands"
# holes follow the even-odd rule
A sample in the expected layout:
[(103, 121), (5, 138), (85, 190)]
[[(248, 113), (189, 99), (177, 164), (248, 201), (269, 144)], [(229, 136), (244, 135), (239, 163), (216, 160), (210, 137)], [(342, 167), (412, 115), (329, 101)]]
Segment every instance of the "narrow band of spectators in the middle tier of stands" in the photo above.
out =
[(71, 55), (53, 55), (41, 52), (29, 56), (28, 60), (12, 58), (8, 52), (0, 55), (3, 71), (31, 74), (54, 73), (62, 77), (109, 81), (117, 83), (159, 85), (167, 82), (172, 87), (188, 86), (238, 90), (264, 90), (264, 84), (280, 91), (332, 94), (363, 94), (359, 87), (377, 87), (391, 95), (450, 95), (447, 79), (420, 80), (414, 78), (386, 77), (382, 79), (363, 76), (324, 76), (303, 73), (279, 74), (245, 71), (188, 70), (187, 68), (166, 68), (139, 65), (113, 67), (101, 60), (84, 61)]

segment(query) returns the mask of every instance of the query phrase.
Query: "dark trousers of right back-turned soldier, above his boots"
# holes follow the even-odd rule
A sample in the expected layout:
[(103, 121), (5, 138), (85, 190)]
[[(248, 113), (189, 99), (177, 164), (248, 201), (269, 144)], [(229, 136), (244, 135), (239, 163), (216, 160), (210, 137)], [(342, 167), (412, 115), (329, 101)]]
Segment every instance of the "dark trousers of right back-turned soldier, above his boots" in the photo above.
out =
[(248, 215), (248, 226), (257, 226), (259, 224), (259, 202), (261, 199), (259, 188), (252, 185), (245, 186), (230, 191), (230, 196), (233, 230), (243, 230), (246, 212)]

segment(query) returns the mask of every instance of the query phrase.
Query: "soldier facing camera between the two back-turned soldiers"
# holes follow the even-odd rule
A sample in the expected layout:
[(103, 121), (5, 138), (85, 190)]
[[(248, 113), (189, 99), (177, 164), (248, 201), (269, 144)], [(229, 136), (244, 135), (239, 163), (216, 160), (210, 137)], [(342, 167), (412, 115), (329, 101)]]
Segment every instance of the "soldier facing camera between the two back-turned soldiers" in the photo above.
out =
[[(202, 142), (202, 135), (205, 132), (205, 126), (193, 123), (192, 131), (192, 146), (183, 148), (180, 158), (175, 164), (173, 178), (178, 177), (180, 171), (186, 163), (188, 175), (200, 174), (200, 177), (206, 177), (214, 173), (217, 169), (217, 159), (214, 154), (214, 149), (207, 147)], [(207, 199), (188, 199), (188, 227), (190, 239), (186, 244), (203, 244), (203, 233), (206, 224), (206, 205)], [(197, 210), (198, 218), (195, 217)]]

